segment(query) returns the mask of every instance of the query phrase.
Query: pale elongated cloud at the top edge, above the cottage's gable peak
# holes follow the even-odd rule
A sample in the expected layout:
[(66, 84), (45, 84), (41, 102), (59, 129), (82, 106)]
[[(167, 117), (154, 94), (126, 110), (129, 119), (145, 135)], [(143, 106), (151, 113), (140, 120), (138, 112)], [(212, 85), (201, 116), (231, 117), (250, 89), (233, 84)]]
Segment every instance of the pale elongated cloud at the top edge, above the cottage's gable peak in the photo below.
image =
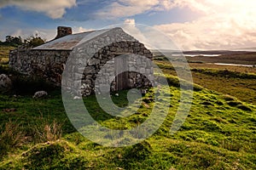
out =
[(171, 0), (117, 0), (96, 12), (96, 18), (114, 19), (174, 7)]

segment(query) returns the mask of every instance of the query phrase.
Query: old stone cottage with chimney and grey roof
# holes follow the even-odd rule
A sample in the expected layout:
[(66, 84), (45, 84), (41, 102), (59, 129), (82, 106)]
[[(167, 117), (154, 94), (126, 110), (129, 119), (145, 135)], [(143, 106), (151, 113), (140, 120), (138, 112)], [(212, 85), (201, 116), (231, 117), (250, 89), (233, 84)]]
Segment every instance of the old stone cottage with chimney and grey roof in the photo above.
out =
[[(121, 57), (116, 59), (117, 56), (125, 56), (125, 54), (133, 55), (133, 58)], [(89, 59), (86, 57), (87, 55), (92, 55), (92, 57)], [(111, 91), (152, 85), (148, 77), (153, 77), (153, 66), (148, 60), (140, 59), (139, 56), (152, 60), (153, 54), (145, 48), (143, 43), (138, 42), (119, 27), (72, 34), (70, 27), (59, 26), (58, 34), (54, 40), (36, 48), (22, 46), (11, 51), (9, 65), (15, 71), (32, 77), (42, 77), (45, 81), (61, 87), (62, 72), (71, 56), (72, 59), (81, 60), (85, 63), (84, 68), (79, 68), (81, 65), (73, 65), (73, 68), (68, 67), (72, 71), (70, 77), (78, 74), (82, 77), (78, 84), (82, 89), (81, 94), (83, 96), (101, 91), (101, 89), (96, 89), (96, 77), (111, 59), (114, 59), (110, 66), (112, 72), (120, 70), (120, 68), (125, 69), (127, 67), (125, 65), (129, 67), (126, 68), (129, 71), (118, 76), (108, 72), (103, 74), (106, 79), (115, 77), (112, 82), (108, 82), (111, 83)], [(98, 81), (100, 82), (97, 84), (101, 84), (101, 81), (104, 82), (104, 80)], [(68, 83), (65, 85), (68, 86)]]

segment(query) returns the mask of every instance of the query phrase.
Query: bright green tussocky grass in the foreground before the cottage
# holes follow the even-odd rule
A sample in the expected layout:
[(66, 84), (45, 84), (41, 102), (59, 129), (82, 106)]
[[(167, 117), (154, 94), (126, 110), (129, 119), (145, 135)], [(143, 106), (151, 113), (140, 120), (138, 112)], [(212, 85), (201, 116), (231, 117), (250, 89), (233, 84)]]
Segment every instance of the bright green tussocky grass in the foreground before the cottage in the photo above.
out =
[[(195, 92), (186, 122), (171, 135), (169, 131), (177, 111), (180, 90), (171, 87), (170, 91), (172, 107), (160, 129), (143, 143), (123, 148), (103, 147), (76, 133), (67, 119), (59, 92), (51, 93), (48, 99), (1, 95), (1, 124), (19, 122), (17, 126), (27, 139), (21, 145), (14, 145), (3, 156), (0, 169), (256, 168), (255, 105), (201, 89)], [(126, 105), (125, 95), (126, 91), (123, 91), (114, 96), (113, 102)], [(146, 99), (152, 94), (148, 95)], [(237, 105), (230, 105), (230, 102)], [(151, 111), (143, 106), (135, 115), (116, 118), (96, 105), (94, 95), (84, 99), (84, 103), (98, 122), (115, 129), (136, 127), (148, 118)], [(148, 105), (151, 107), (150, 102)], [(241, 105), (251, 111), (244, 111)], [(3, 112), (6, 108), (17, 111)], [(48, 143), (39, 142), (34, 134), (35, 128), (40, 127), (42, 122), (46, 125), (54, 122), (61, 124), (58, 128), (61, 128), (62, 138)], [(41, 132), (44, 133), (44, 130)]]

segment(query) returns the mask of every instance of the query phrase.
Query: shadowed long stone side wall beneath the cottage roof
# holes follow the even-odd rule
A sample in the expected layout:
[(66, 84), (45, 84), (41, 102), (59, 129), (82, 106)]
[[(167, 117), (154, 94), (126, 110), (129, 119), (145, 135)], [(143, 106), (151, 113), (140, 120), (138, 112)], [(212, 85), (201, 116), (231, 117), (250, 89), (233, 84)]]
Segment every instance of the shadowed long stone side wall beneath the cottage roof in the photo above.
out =
[(10, 52), (9, 65), (15, 71), (41, 77), (55, 86), (61, 86), (61, 74), (71, 51), (33, 50), (21, 46)]

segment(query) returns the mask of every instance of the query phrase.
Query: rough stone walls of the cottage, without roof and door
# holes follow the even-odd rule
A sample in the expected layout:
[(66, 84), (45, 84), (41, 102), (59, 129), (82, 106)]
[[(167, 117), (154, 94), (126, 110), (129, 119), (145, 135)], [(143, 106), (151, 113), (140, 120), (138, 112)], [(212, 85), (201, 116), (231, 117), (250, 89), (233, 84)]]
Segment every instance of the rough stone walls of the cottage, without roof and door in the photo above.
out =
[[(143, 43), (120, 28), (82, 42), (73, 51), (20, 47), (10, 53), (9, 65), (16, 71), (42, 77), (56, 86), (61, 86), (62, 71), (66, 66), (66, 81), (62, 82), (62, 86), (75, 95), (87, 96), (94, 92), (102, 93), (106, 84), (110, 85), (107, 88), (111, 88), (111, 91), (118, 89), (114, 64), (117, 56), (127, 58), (128, 80), (124, 81), (129, 88), (152, 85), (150, 81), (153, 80), (154, 69), (149, 61), (153, 55)], [(105, 68), (106, 63), (108, 66)], [(101, 78), (97, 78), (99, 73)]]

